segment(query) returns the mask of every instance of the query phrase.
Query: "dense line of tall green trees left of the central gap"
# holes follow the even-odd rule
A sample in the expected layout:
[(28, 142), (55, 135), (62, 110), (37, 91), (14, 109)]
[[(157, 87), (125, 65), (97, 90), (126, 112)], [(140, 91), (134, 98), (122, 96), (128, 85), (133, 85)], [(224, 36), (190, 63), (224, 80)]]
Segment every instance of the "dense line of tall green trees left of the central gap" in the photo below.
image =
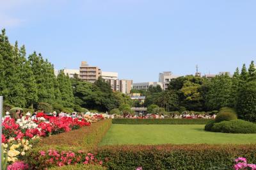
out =
[(13, 46), (5, 30), (0, 34), (0, 95), (4, 103), (22, 108), (58, 111), (110, 111), (122, 104), (132, 105), (131, 99), (99, 79), (94, 84), (81, 81), (77, 75), (70, 79), (61, 70), (54, 75), (54, 66), (33, 52), (26, 56), (24, 45)]

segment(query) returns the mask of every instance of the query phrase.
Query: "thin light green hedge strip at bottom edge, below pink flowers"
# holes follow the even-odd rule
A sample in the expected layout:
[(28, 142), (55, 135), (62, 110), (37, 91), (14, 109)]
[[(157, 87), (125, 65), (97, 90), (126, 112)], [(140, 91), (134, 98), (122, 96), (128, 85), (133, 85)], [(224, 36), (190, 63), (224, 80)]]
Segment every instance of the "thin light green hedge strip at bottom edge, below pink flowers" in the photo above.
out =
[(62, 167), (52, 167), (49, 170), (102, 170), (106, 169), (102, 166), (92, 166), (92, 165), (84, 165), (84, 164), (76, 164), (76, 166), (62, 166)]

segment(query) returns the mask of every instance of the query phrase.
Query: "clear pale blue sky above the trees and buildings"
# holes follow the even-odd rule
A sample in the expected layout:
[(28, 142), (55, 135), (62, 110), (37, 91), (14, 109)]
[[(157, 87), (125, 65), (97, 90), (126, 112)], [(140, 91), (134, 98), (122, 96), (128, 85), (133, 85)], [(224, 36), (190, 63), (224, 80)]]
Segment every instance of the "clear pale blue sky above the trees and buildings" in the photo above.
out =
[(0, 27), (58, 69), (81, 61), (134, 82), (256, 61), (254, 0), (0, 0)]

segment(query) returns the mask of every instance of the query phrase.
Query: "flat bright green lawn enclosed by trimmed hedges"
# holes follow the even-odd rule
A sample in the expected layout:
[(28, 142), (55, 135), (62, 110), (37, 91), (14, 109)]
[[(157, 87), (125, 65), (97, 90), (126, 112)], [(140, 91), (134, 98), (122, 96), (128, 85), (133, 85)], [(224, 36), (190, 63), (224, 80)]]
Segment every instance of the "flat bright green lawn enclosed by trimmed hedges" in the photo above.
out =
[(101, 141), (111, 144), (250, 144), (256, 134), (206, 132), (204, 125), (112, 125)]

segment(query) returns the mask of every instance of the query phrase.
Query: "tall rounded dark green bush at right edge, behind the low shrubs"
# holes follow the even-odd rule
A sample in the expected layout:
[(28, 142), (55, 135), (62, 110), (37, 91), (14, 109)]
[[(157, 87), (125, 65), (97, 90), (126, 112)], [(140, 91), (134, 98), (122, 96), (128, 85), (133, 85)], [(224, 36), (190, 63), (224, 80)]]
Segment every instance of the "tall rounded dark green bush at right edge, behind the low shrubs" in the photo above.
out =
[(237, 112), (239, 118), (256, 122), (256, 81), (244, 84), (239, 93)]

